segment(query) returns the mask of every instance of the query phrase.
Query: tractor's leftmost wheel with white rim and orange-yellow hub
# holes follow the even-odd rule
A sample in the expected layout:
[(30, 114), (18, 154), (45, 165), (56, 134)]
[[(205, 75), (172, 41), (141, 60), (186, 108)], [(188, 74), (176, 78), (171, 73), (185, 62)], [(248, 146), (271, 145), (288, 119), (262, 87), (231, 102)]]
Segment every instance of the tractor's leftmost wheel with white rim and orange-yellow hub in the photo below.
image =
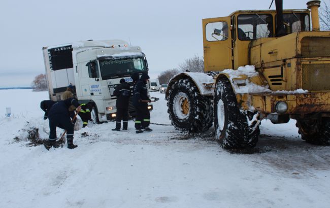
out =
[(189, 79), (178, 80), (170, 87), (167, 106), (172, 124), (180, 131), (203, 132), (212, 126), (212, 99), (202, 96)]

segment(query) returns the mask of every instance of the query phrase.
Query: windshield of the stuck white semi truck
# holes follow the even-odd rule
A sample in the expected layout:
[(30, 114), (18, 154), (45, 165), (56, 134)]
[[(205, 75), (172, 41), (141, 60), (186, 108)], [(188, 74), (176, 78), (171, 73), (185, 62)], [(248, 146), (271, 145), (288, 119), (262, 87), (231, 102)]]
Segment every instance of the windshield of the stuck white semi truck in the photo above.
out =
[(99, 59), (99, 62), (103, 80), (112, 79), (115, 77), (123, 77), (134, 72), (146, 71), (145, 60), (143, 57), (105, 57), (103, 59)]

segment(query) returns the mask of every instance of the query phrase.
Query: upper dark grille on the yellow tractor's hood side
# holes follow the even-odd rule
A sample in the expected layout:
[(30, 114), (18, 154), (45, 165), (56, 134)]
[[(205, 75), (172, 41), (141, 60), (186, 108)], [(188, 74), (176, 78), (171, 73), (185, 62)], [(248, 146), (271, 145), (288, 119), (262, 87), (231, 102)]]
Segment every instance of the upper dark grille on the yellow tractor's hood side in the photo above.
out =
[(330, 56), (330, 38), (305, 37), (302, 40), (303, 57)]

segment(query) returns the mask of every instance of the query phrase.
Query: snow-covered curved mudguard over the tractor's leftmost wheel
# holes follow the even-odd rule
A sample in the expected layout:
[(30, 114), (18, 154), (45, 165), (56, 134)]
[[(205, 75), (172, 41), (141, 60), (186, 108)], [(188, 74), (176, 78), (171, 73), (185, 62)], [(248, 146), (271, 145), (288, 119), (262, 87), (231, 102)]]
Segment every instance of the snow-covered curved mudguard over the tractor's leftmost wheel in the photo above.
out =
[(171, 89), (171, 86), (176, 81), (181, 80), (181, 79), (190, 79), (192, 82), (194, 82), (201, 95), (213, 96), (214, 80), (213, 80), (212, 76), (209, 76), (205, 73), (184, 72), (184, 73), (180, 73), (180, 74), (175, 75), (169, 81), (169, 85), (166, 89), (166, 94), (165, 94), (165, 99), (166, 100), (168, 100), (169, 89)]

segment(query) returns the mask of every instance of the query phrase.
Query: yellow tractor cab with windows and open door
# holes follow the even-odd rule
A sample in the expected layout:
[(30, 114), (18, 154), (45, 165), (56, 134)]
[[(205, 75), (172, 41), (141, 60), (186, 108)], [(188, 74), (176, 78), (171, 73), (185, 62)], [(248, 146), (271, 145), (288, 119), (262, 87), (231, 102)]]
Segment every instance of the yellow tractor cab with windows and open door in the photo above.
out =
[[(249, 45), (277, 37), (276, 10), (236, 11), (228, 17), (203, 19), (205, 72), (237, 69), (249, 63)], [(284, 10), (281, 36), (310, 31), (310, 10)]]

